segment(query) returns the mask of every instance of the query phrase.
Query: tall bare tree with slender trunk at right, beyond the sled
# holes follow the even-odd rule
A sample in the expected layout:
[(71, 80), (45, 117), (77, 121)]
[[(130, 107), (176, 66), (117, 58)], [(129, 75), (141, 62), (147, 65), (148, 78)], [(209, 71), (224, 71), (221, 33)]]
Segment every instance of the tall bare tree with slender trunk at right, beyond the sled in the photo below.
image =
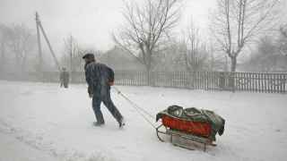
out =
[(235, 72), (237, 58), (265, 31), (273, 27), (274, 9), (279, 0), (217, 0), (217, 13), (211, 26), (222, 51), (230, 57)]

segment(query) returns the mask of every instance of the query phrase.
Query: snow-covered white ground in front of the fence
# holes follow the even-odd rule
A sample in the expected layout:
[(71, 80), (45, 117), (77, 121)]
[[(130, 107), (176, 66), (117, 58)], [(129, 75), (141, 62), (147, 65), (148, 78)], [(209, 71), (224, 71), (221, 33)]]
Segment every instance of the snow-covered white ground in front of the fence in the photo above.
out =
[(117, 87), (152, 114), (170, 105), (214, 110), (226, 119), (217, 147), (190, 151), (160, 142), (123, 97), (112, 97), (125, 129), (102, 106), (103, 127), (93, 127), (85, 85), (0, 81), (0, 160), (283, 161), (287, 157), (287, 96), (149, 87)]

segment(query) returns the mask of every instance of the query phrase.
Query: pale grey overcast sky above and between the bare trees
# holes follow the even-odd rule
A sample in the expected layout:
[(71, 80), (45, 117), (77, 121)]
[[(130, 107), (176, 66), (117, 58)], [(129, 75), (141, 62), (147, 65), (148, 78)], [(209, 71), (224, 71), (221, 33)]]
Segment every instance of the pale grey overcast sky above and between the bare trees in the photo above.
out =
[[(202, 29), (207, 28), (215, 0), (184, 3), (178, 30), (184, 29), (191, 18)], [(122, 0), (0, 0), (0, 22), (24, 23), (35, 30), (34, 14), (38, 11), (57, 52), (71, 34), (85, 46), (107, 50), (114, 45), (110, 33), (123, 21), (122, 7)]]

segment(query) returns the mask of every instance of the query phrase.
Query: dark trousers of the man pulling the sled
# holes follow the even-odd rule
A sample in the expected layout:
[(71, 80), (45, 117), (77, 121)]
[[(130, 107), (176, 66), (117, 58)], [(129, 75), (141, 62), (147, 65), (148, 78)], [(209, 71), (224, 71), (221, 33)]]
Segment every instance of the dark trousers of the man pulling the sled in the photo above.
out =
[(93, 91), (92, 96), (92, 109), (98, 123), (105, 123), (104, 117), (100, 111), (101, 102), (103, 102), (104, 105), (107, 106), (110, 114), (114, 116), (117, 122), (120, 122), (122, 120), (122, 114), (119, 113), (117, 107), (114, 105), (113, 101), (110, 98), (110, 88), (102, 87), (101, 89), (96, 89), (95, 91)]

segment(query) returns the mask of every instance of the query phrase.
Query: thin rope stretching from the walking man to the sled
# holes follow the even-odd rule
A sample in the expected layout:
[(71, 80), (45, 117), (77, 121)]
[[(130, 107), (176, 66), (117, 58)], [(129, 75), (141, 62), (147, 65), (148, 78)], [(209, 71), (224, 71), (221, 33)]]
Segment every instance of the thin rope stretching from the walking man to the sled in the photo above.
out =
[[(136, 110), (136, 112), (137, 112), (138, 114), (141, 114), (141, 116), (143, 117), (143, 119), (144, 119), (147, 123), (151, 124), (152, 127), (153, 127), (154, 129), (156, 129), (156, 126), (144, 115), (144, 114), (146, 114), (146, 115), (150, 116), (152, 119), (154, 119), (154, 117), (152, 116), (152, 114), (148, 113), (148, 112), (147, 112), (146, 110), (144, 110), (142, 107), (136, 105), (135, 102), (133, 102), (132, 100), (130, 100), (128, 97), (126, 97), (119, 89), (117, 89), (116, 87), (113, 87), (113, 88), (117, 91), (117, 94), (118, 94), (118, 95), (124, 97), (124, 98), (127, 100), (127, 102), (129, 102), (129, 103), (132, 105), (132, 107), (135, 108), (135, 110)], [(144, 113), (144, 114), (142, 114), (141, 112)]]

